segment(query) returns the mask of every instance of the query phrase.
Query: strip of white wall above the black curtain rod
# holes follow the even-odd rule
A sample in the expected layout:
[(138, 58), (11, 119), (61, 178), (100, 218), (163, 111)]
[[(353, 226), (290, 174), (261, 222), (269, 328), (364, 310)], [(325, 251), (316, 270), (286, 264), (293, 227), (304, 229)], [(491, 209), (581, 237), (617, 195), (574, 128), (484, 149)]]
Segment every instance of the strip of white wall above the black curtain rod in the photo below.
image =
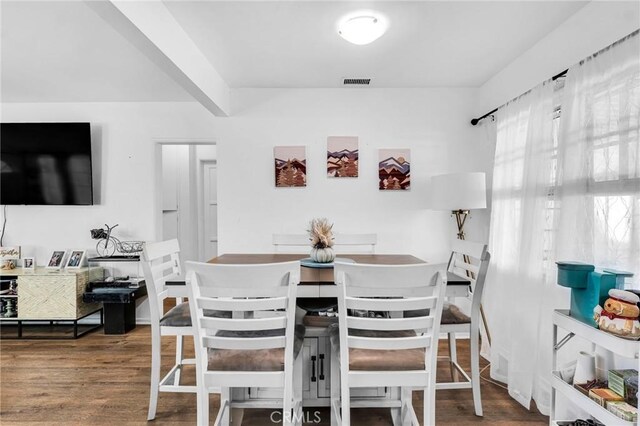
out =
[(474, 117), (519, 96), (640, 28), (640, 2), (592, 1), (478, 90)]

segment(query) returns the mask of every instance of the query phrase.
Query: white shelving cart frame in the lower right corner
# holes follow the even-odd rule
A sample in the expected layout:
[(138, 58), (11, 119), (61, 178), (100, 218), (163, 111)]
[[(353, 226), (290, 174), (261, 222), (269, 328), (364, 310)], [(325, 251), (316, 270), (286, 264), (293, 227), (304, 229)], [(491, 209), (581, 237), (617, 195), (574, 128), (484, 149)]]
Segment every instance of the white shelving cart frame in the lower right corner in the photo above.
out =
[[(558, 328), (562, 328), (569, 332), (560, 341), (558, 341)], [(605, 425), (620, 425), (631, 426), (639, 425), (639, 422), (628, 422), (615, 414), (607, 411), (604, 407), (591, 400), (586, 395), (575, 389), (572, 385), (566, 383), (560, 378), (559, 373), (556, 371), (557, 366), (557, 352), (562, 346), (573, 336), (582, 337), (590, 341), (595, 346), (600, 346), (604, 349), (612, 351), (613, 353), (638, 360), (636, 370), (640, 371), (640, 342), (635, 340), (622, 339), (612, 334), (600, 331), (595, 327), (583, 323), (575, 318), (569, 316), (568, 310), (556, 310), (553, 313), (553, 374), (551, 378), (551, 416), (550, 424), (554, 425), (557, 421), (562, 419), (556, 418), (556, 392), (560, 392), (571, 403), (577, 407), (589, 413), (599, 422)]]

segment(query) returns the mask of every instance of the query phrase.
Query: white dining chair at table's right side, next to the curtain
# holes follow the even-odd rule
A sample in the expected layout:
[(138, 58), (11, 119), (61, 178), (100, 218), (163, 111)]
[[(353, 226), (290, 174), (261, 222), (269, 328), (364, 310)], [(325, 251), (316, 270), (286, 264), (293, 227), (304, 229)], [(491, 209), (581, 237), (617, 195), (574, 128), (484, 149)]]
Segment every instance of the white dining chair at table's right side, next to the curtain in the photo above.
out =
[[(460, 278), (468, 280), (471, 312), (467, 316), (454, 304), (446, 303), (442, 310), (440, 332), (447, 333), (449, 340), (449, 362), (451, 378), (455, 380), (460, 373), (464, 381), (438, 382), (436, 389), (471, 389), (476, 416), (482, 416), (482, 398), (480, 395), (480, 307), (484, 281), (489, 268), (491, 255), (486, 244), (465, 240), (454, 240), (447, 270)], [(468, 333), (471, 350), (471, 377), (458, 364), (456, 333)]]

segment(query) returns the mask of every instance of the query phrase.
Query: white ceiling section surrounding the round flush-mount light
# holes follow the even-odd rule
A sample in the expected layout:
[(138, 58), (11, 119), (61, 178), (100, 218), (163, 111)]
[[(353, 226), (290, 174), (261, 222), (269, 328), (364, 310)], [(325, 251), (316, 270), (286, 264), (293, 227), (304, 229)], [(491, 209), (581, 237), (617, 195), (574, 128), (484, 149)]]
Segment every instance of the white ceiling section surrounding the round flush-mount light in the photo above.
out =
[[(587, 2), (164, 3), (231, 87), (478, 87)], [(390, 26), (356, 46), (335, 26), (363, 5)]]

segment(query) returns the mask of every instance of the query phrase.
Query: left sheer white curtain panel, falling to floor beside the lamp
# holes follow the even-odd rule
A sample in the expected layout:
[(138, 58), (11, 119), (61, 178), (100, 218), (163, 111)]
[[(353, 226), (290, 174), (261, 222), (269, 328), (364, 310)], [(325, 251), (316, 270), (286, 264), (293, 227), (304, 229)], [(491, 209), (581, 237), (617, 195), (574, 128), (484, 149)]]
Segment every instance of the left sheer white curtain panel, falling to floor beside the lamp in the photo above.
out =
[[(545, 320), (550, 280), (545, 241), (552, 183), (554, 84), (551, 81), (497, 113), (493, 170), (491, 265), (484, 296), (492, 334), (491, 376), (529, 407), (544, 372), (538, 357), (551, 341)], [(547, 327), (548, 326), (548, 327)], [(550, 368), (549, 368), (550, 369)]]

